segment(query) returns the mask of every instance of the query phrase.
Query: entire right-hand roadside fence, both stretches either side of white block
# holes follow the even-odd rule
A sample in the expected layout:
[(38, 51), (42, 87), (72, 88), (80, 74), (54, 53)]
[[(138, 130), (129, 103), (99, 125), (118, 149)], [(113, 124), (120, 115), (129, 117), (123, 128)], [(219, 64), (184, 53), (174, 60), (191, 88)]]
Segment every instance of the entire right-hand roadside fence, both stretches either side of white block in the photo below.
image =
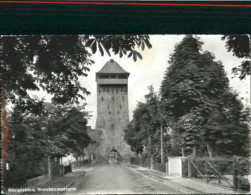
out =
[[(150, 158), (131, 158), (132, 165), (142, 166), (161, 172), (168, 172), (167, 164), (152, 162)], [(184, 158), (182, 159), (182, 177), (197, 178), (235, 190), (249, 190), (248, 158)]]

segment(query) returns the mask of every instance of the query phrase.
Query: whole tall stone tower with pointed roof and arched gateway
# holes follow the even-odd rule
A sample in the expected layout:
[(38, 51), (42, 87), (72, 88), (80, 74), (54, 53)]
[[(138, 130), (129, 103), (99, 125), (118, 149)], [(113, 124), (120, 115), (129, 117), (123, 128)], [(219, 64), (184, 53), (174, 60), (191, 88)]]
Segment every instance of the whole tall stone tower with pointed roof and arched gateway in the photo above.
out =
[(96, 73), (98, 156), (106, 157), (111, 150), (122, 158), (131, 154), (124, 141), (124, 127), (129, 122), (128, 77), (129, 73), (112, 59)]

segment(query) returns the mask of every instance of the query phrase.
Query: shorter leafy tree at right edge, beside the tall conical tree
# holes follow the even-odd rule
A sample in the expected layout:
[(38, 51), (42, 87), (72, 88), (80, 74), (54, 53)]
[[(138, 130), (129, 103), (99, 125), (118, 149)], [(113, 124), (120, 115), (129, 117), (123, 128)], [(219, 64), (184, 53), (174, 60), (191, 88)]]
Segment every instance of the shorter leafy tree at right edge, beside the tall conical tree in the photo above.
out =
[(228, 92), (223, 96), (223, 106), (215, 110), (204, 126), (206, 142), (211, 146), (210, 156), (249, 154), (249, 112), (238, 99), (238, 95)]

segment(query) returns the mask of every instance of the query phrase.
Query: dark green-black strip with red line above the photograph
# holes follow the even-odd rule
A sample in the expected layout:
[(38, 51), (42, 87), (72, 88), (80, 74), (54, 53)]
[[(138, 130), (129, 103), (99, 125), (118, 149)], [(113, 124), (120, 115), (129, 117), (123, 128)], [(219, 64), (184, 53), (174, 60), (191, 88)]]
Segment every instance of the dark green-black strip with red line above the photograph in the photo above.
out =
[(251, 2), (0, 1), (0, 34), (243, 34)]

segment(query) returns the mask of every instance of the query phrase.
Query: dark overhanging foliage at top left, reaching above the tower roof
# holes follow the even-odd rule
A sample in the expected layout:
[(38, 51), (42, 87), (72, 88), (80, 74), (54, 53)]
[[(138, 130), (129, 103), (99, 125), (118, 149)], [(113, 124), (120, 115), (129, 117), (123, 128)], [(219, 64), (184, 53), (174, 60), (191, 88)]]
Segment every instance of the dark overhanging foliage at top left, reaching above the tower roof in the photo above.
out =
[(4, 43), (0, 71), (5, 81), (7, 99), (22, 99), (23, 106), (32, 102), (28, 90), (43, 89), (53, 95), (55, 103), (78, 103), (88, 90), (78, 77), (87, 76), (98, 50), (132, 57), (142, 56), (136, 47), (151, 48), (147, 35), (35, 35), (1, 36)]

